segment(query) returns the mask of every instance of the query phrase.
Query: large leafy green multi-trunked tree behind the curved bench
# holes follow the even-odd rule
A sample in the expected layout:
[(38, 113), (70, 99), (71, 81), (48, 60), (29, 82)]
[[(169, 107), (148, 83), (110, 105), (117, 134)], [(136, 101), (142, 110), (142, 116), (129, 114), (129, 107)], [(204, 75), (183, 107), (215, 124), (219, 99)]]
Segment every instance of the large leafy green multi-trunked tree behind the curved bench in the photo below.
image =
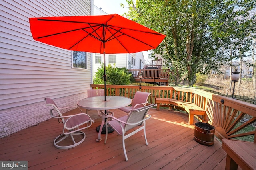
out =
[[(224, 45), (232, 45), (230, 27), (224, 23), (234, 20), (235, 5), (252, 7), (252, 2), (239, 0), (127, 0), (132, 20), (166, 35), (163, 43), (152, 50), (166, 59), (175, 72), (175, 84), (181, 77), (189, 85), (196, 81), (196, 73), (219, 71), (220, 65), (230, 61), (222, 55)], [(223, 28), (221, 30), (220, 28)], [(152, 57), (151, 56), (151, 57)]]

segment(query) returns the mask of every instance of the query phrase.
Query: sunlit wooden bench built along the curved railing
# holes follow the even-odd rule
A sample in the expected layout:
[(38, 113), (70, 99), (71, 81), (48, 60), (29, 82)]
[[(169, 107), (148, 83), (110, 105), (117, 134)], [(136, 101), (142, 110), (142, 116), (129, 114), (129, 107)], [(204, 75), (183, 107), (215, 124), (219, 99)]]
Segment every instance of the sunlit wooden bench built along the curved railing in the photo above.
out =
[[(202, 109), (201, 107), (197, 106), (194, 103), (184, 102), (176, 99), (156, 98), (156, 104), (157, 104), (156, 106), (157, 111), (159, 111), (160, 104), (170, 104), (170, 105), (173, 105), (174, 108), (176, 109), (186, 111), (189, 114), (188, 122), (190, 125), (193, 125), (194, 115), (205, 115), (206, 113), (204, 109)], [(170, 106), (166, 105), (164, 107), (170, 107)]]

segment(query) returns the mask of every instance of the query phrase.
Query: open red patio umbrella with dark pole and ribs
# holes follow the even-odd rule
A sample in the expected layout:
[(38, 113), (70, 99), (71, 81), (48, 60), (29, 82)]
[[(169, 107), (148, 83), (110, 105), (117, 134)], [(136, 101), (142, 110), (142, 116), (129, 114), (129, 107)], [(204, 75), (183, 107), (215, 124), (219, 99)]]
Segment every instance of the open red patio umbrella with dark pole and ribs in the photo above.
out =
[(56, 47), (104, 54), (136, 53), (156, 48), (165, 35), (118, 14), (29, 18), (33, 38)]

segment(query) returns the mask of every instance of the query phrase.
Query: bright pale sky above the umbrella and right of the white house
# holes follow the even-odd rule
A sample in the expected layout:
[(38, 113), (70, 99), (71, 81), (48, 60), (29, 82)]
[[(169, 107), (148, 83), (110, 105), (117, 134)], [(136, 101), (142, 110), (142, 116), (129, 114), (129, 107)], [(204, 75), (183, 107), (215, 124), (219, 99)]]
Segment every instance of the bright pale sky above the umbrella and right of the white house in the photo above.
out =
[[(124, 8), (120, 4), (124, 4)], [(126, 0), (94, 0), (94, 5), (101, 8), (107, 14), (122, 15), (129, 10)], [(148, 52), (143, 51), (143, 55), (145, 63), (150, 64), (151, 59), (148, 59)]]

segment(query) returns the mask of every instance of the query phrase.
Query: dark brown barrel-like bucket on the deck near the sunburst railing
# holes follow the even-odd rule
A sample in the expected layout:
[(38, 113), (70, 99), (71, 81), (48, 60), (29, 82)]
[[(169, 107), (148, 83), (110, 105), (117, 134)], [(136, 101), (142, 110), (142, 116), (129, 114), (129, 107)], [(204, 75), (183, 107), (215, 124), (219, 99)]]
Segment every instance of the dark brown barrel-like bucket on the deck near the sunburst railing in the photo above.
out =
[(197, 122), (195, 123), (194, 139), (195, 141), (203, 145), (213, 145), (214, 132), (214, 126), (208, 123)]

